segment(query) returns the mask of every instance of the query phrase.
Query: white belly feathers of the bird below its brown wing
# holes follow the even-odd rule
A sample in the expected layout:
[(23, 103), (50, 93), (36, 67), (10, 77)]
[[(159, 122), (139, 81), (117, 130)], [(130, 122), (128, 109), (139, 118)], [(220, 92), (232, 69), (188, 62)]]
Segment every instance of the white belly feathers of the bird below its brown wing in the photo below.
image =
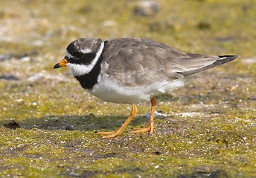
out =
[(149, 101), (153, 96), (181, 88), (185, 85), (185, 81), (185, 79), (176, 79), (173, 82), (164, 80), (144, 87), (124, 88), (113, 79), (109, 79), (109, 76), (100, 75), (97, 85), (89, 92), (105, 102), (135, 104)]

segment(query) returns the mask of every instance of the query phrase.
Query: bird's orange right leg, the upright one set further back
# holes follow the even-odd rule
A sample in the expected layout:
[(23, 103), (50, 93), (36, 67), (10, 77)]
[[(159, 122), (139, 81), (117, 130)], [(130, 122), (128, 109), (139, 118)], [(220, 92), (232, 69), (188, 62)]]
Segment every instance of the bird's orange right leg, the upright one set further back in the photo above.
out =
[(153, 133), (155, 108), (156, 108), (156, 96), (153, 96), (153, 98), (151, 99), (150, 122), (148, 123), (147, 128), (135, 128), (132, 131), (132, 133), (144, 133), (144, 132), (150, 132), (150, 134)]

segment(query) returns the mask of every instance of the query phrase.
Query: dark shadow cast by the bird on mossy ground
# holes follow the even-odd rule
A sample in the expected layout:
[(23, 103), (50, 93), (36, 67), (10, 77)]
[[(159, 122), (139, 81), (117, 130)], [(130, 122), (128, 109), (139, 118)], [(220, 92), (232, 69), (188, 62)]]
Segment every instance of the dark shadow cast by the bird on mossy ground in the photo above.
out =
[[(127, 116), (43, 116), (40, 118), (23, 119), (16, 123), (20, 128), (42, 130), (75, 130), (75, 131), (116, 131), (125, 122)], [(0, 125), (7, 125), (10, 121), (0, 121)], [(147, 125), (148, 119), (136, 116), (129, 124), (131, 127)], [(15, 128), (14, 128), (15, 129)]]

